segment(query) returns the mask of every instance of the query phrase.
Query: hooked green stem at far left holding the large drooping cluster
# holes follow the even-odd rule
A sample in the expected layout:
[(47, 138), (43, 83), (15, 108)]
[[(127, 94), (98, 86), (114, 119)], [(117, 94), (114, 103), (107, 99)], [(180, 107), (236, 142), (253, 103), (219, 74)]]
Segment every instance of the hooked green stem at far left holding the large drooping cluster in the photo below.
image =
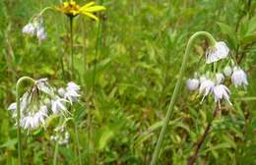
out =
[(18, 157), (19, 157), (19, 165), (23, 164), (23, 152), (22, 152), (22, 131), (21, 131), (21, 102), (20, 102), (20, 87), (22, 83), (30, 82), (35, 83), (35, 81), (30, 77), (22, 77), (16, 83), (16, 104), (17, 104), (17, 137), (18, 137)]

